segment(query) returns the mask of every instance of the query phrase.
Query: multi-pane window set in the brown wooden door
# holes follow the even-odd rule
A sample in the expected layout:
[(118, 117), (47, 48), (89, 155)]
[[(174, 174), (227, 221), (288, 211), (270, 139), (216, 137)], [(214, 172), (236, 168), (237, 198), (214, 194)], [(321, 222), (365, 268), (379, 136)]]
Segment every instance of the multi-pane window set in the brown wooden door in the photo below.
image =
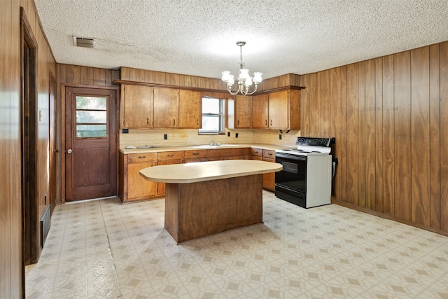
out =
[(76, 137), (107, 137), (107, 99), (76, 96)]

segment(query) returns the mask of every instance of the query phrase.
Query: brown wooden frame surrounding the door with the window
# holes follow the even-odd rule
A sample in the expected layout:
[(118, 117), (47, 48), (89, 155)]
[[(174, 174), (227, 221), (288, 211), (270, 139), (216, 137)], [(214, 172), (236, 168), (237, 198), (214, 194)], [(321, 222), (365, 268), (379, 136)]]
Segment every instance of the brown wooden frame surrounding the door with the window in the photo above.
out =
[[(118, 86), (100, 86), (100, 85), (84, 85), (84, 84), (68, 84), (68, 83), (61, 83), (60, 88), (60, 99), (61, 99), (61, 153), (66, 152), (66, 145), (65, 145), (65, 119), (66, 119), (66, 113), (65, 113), (65, 106), (66, 106), (66, 88), (93, 88), (93, 89), (103, 89), (103, 90), (115, 90), (115, 111), (111, 111), (111, 117), (115, 118), (115, 132), (116, 132), (116, 150), (118, 149), (119, 144), (119, 134), (118, 134), (118, 109), (119, 109), (119, 103), (118, 103)], [(116, 155), (116, 169), (118, 169), (118, 151)], [(61, 158), (61, 182), (62, 182), (62, 188), (61, 188), (61, 201), (62, 204), (66, 202), (65, 200), (65, 159)], [(116, 195), (118, 194), (118, 171), (116, 171)]]

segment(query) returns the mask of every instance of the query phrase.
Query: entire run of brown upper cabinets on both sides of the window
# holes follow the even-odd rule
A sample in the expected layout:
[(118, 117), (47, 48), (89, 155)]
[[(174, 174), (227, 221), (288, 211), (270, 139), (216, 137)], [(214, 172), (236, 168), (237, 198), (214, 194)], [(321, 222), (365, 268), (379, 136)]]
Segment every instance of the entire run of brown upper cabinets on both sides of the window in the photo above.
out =
[(300, 89), (297, 87), (231, 97), (225, 92), (120, 84), (121, 127), (200, 129), (202, 97), (216, 97), (227, 101), (229, 129), (300, 130)]

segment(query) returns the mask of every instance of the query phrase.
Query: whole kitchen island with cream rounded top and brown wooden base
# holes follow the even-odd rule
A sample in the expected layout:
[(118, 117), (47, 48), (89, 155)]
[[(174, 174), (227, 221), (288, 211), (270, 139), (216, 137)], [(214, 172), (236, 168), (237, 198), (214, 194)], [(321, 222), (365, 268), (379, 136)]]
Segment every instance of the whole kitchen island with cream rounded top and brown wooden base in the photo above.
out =
[(262, 174), (278, 163), (222, 160), (141, 169), (166, 183), (165, 230), (176, 243), (262, 223)]

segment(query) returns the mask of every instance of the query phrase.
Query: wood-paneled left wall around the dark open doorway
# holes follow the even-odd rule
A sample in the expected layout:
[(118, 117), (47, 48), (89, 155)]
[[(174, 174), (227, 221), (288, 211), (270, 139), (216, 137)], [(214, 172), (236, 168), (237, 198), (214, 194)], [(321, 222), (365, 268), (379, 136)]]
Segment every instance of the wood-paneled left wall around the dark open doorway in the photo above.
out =
[[(0, 298), (22, 298), (24, 267), (22, 265), (22, 190), (21, 190), (21, 49), (20, 7), (38, 43), (37, 110), (38, 122), (38, 211), (37, 219), (46, 207), (49, 194), (49, 97), (50, 71), (56, 74), (56, 64), (41, 29), (34, 1), (0, 1), (0, 169), (6, 175), (0, 180)], [(48, 204), (48, 203), (47, 203)], [(36, 223), (38, 225), (38, 223)], [(40, 234), (39, 234), (40, 235)]]

